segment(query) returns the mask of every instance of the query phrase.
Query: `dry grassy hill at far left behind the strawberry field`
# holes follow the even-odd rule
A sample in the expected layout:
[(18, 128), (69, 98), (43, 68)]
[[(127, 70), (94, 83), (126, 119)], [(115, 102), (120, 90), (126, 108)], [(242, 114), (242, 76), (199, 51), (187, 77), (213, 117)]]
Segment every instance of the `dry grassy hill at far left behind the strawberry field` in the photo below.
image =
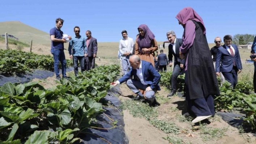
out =
[(25, 25), (19, 21), (0, 22), (0, 34), (3, 35), (5, 32), (15, 36), (21, 42), (28, 44), (30, 44), (31, 39), (33, 39), (33, 43), (35, 44), (51, 45), (48, 33)]

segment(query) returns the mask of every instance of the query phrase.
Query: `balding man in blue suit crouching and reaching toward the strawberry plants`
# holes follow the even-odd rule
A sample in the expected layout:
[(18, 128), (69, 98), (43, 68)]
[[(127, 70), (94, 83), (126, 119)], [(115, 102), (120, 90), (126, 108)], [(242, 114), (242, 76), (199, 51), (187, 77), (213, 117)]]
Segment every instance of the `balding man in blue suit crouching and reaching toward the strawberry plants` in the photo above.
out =
[(137, 94), (134, 100), (144, 99), (144, 96), (138, 90), (140, 89), (146, 92), (145, 97), (149, 101), (150, 106), (157, 105), (155, 92), (160, 90), (159, 80), (161, 75), (154, 69), (150, 62), (140, 60), (140, 57), (137, 55), (132, 55), (129, 58), (129, 62), (132, 69), (116, 82), (112, 82), (111, 85), (116, 86), (127, 81), (127, 86)]

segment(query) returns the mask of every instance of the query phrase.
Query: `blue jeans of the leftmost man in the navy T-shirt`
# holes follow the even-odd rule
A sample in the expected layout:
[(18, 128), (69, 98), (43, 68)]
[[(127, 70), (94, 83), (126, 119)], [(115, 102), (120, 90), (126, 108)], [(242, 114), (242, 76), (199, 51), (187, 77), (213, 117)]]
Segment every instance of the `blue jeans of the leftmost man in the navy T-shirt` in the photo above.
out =
[(64, 53), (64, 49), (51, 49), (51, 53), (54, 56), (54, 71), (56, 74), (56, 77), (59, 77), (59, 63), (61, 64), (61, 73), (63, 78), (67, 77), (66, 75), (66, 58), (65, 58), (65, 53)]

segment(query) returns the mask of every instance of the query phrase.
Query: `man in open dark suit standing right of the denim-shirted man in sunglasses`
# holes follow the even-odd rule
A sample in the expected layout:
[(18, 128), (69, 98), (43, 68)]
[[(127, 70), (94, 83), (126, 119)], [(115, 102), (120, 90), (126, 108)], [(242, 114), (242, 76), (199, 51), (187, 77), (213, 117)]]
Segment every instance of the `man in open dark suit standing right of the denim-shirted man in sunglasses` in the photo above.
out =
[(91, 31), (86, 31), (85, 35), (87, 39), (85, 40), (87, 45), (87, 56), (85, 57), (86, 61), (86, 70), (94, 69), (95, 67), (95, 57), (98, 51), (97, 39), (91, 36)]

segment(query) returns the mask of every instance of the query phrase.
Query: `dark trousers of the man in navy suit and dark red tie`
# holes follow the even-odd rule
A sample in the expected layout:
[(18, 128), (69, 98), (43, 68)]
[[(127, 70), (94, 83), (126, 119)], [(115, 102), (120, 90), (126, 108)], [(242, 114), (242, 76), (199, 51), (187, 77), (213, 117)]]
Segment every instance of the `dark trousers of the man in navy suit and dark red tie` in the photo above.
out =
[(234, 66), (230, 72), (222, 72), (224, 78), (235, 88), (237, 84), (237, 68)]

